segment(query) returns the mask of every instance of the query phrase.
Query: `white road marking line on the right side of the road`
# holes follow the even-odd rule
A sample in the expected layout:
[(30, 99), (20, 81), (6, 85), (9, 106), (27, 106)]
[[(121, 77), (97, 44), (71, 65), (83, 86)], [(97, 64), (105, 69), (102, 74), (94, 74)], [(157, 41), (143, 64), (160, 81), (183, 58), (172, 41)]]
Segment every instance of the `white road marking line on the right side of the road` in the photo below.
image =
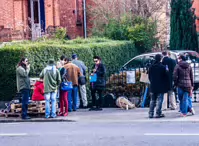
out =
[(145, 133), (145, 136), (199, 136), (199, 133)]

